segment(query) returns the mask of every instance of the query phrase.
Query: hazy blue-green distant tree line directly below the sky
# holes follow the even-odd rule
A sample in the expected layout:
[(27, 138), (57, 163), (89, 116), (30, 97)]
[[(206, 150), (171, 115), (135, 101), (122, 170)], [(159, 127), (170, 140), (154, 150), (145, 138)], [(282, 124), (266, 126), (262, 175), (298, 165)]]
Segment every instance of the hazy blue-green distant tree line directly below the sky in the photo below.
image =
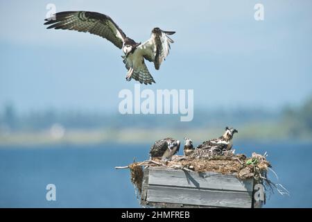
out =
[(312, 132), (312, 97), (299, 108), (284, 108), (278, 112), (261, 109), (195, 110), (191, 122), (180, 122), (180, 115), (174, 114), (119, 114), (119, 112), (89, 113), (81, 111), (44, 110), (17, 114), (14, 105), (0, 109), (1, 128), (10, 130), (44, 130), (54, 123), (65, 128), (207, 128), (239, 126), (250, 122), (281, 122), (289, 127), (289, 133), (297, 135)]

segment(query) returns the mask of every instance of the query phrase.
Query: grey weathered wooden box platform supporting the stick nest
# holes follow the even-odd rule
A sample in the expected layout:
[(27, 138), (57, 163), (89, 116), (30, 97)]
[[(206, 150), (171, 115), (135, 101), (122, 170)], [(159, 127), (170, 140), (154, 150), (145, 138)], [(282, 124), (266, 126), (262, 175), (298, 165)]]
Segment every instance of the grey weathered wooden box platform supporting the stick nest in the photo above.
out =
[(235, 174), (198, 173), (146, 167), (141, 193), (144, 207), (261, 207), (252, 198), (254, 179)]

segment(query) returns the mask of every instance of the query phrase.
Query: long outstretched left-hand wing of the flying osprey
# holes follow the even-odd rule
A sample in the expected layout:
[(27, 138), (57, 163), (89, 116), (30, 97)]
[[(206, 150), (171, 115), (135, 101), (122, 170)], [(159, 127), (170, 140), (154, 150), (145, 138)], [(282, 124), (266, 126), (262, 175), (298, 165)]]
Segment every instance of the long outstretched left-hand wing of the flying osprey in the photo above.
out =
[(98, 12), (72, 11), (58, 12), (45, 19), (48, 28), (76, 30), (99, 35), (112, 42), (119, 49), (123, 46), (125, 33), (107, 15)]

